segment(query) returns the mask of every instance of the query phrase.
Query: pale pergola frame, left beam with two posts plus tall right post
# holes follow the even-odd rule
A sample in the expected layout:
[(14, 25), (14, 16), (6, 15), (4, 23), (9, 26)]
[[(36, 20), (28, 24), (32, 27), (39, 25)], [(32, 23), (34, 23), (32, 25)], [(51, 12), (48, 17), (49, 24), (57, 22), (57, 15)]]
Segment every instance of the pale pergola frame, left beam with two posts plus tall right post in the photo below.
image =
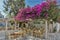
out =
[[(6, 32), (7, 32), (7, 27), (8, 27), (8, 21), (10, 21), (10, 20), (13, 20), (13, 21), (15, 21), (15, 28), (16, 28), (16, 20), (14, 19), (14, 18), (0, 18), (0, 20), (1, 21), (3, 21), (3, 22), (5, 22), (6, 23)], [(47, 34), (48, 34), (48, 26), (47, 26), (47, 20), (45, 20), (45, 29), (46, 29), (46, 39), (48, 38), (48, 36), (47, 36)]]

